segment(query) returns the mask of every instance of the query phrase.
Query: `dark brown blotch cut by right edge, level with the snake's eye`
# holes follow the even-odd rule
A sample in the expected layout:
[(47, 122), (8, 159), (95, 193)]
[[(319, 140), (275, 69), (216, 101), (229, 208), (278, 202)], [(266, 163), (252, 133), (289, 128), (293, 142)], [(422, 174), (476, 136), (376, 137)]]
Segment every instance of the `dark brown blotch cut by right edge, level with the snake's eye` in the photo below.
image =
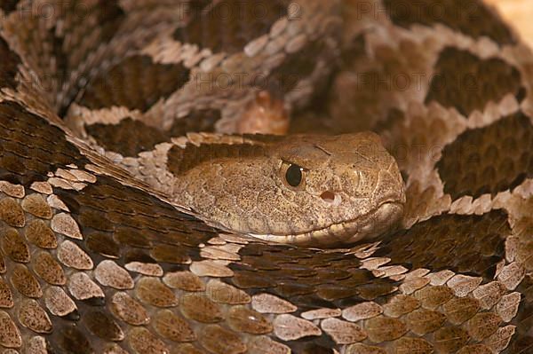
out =
[(533, 126), (518, 113), (467, 130), (444, 148), (436, 168), (454, 200), (513, 190), (533, 176)]

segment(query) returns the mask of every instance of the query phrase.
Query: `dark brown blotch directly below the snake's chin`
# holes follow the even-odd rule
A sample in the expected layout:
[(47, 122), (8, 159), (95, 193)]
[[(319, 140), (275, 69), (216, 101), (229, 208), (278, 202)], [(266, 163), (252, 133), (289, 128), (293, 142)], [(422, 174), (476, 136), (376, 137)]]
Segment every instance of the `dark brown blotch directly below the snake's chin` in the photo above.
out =
[(253, 295), (267, 291), (302, 311), (346, 307), (392, 294), (394, 281), (359, 269), (360, 260), (342, 252), (249, 244), (243, 264), (230, 264), (234, 277), (222, 279)]

